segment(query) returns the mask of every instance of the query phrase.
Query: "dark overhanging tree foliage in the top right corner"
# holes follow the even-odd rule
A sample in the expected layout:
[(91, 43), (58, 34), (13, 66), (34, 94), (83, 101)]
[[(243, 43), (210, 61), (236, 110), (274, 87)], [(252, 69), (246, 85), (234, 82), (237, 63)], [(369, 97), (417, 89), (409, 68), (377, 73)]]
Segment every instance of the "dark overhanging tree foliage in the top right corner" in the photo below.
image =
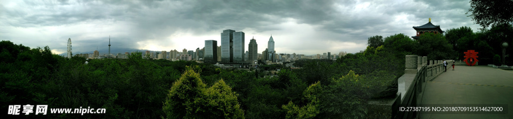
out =
[[(503, 23), (513, 22), (513, 1), (487, 1), (487, 0), (471, 0), (470, 17), (480, 25), (481, 29), (486, 29), (490, 25), (492, 27)], [(466, 14), (468, 14), (468, 12)]]

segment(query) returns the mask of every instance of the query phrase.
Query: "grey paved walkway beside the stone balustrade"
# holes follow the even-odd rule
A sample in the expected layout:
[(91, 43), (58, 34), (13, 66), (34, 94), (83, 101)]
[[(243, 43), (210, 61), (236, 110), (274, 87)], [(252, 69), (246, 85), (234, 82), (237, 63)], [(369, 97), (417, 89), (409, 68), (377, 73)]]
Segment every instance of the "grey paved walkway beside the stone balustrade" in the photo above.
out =
[(423, 114), (420, 118), (513, 118), (513, 71), (488, 66), (447, 66), (426, 84), (422, 104), (507, 104), (506, 114)]

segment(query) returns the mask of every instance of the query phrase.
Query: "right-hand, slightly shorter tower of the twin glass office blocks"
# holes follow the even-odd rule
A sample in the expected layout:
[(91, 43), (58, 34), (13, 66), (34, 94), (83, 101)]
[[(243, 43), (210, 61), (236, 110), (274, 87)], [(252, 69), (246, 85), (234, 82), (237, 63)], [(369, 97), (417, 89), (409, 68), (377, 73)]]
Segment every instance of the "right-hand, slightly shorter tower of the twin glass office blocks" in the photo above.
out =
[(244, 51), (246, 44), (244, 43), (244, 32), (233, 32), (233, 62), (244, 62)]

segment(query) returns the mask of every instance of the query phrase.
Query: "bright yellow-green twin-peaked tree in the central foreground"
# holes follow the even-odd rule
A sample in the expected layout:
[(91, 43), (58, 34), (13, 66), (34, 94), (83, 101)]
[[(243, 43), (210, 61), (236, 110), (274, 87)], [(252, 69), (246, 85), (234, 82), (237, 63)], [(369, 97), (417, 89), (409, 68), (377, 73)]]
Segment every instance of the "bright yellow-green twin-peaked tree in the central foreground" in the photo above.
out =
[(167, 118), (244, 118), (236, 94), (223, 80), (207, 87), (201, 68), (187, 67), (173, 83), (163, 110)]

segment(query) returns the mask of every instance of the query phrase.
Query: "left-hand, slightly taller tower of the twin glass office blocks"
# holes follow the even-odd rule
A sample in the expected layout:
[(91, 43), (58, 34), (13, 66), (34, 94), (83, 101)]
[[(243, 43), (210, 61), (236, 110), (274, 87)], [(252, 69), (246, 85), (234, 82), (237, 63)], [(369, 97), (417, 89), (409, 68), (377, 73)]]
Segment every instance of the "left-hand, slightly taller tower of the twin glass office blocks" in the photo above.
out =
[(233, 62), (233, 32), (234, 30), (223, 30), (221, 33), (221, 61)]

